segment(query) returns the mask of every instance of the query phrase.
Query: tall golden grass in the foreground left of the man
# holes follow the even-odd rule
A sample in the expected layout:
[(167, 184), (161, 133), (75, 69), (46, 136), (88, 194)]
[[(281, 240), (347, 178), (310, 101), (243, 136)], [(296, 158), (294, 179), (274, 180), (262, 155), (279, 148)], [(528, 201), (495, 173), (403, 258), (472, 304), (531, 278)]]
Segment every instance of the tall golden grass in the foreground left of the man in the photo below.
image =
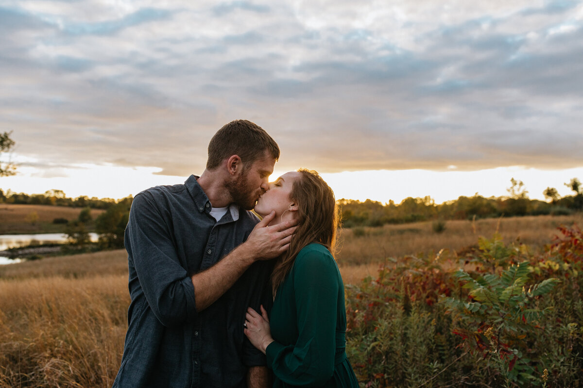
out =
[(0, 387), (108, 387), (127, 329), (127, 277), (0, 281)]

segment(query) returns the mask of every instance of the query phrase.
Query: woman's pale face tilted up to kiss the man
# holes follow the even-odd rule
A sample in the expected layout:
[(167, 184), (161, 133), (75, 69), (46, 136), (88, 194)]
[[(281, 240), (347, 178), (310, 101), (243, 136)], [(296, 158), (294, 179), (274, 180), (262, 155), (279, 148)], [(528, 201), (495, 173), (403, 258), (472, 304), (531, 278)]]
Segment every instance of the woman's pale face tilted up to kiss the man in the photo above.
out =
[[(273, 223), (281, 222), (282, 216), (290, 209), (293, 201), (290, 200), (291, 187), (294, 181), (300, 179), (300, 173), (297, 171), (286, 172), (278, 179), (269, 183), (269, 190), (259, 197), (255, 205), (255, 213), (265, 217), (275, 210)], [(287, 215), (287, 213), (290, 213)], [(287, 212), (285, 219), (292, 218), (292, 212)]]

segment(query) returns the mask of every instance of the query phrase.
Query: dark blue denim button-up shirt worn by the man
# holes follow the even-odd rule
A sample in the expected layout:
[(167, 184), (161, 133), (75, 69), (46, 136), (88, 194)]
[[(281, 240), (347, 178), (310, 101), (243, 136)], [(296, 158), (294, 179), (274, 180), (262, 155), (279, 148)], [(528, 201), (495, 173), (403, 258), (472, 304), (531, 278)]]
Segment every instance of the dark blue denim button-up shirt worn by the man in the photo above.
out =
[(125, 231), (128, 332), (115, 387), (245, 387), (265, 356), (243, 333), (245, 310), (271, 305), (270, 262), (256, 262), (210, 307), (196, 311), (191, 276), (243, 243), (258, 222), (231, 205), (218, 222), (191, 176), (135, 196)]

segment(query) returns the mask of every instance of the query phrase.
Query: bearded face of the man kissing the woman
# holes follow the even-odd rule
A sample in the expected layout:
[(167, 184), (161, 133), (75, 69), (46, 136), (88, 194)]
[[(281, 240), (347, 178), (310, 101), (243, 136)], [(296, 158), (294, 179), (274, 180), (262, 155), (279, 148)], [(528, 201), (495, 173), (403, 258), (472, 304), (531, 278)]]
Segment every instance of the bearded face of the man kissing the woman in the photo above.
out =
[(268, 151), (251, 166), (244, 166), (237, 179), (227, 184), (233, 202), (245, 210), (252, 210), (259, 196), (269, 190), (268, 179), (273, 173), (273, 166), (275, 159)]

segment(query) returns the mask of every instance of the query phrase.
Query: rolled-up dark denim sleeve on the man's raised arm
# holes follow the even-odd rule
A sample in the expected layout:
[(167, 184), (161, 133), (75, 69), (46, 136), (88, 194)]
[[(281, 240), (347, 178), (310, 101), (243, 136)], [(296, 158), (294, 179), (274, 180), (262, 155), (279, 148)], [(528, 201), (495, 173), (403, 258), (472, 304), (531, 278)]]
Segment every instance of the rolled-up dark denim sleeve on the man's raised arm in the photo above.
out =
[(157, 204), (147, 194), (136, 195), (132, 202), (125, 245), (147, 303), (162, 325), (194, 321), (192, 280), (180, 265)]

